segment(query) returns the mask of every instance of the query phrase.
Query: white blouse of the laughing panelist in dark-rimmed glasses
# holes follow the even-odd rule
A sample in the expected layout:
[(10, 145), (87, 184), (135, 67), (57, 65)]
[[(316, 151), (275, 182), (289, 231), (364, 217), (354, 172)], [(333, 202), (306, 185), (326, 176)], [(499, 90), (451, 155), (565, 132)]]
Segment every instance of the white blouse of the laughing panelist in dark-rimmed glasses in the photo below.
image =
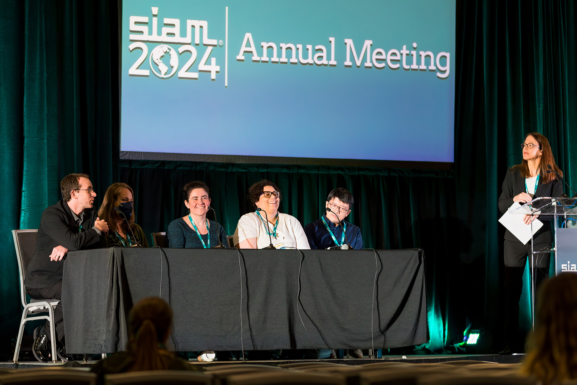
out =
[[(261, 214), (262, 215), (262, 214)], [(266, 220), (261, 220), (257, 213), (244, 214), (238, 220), (237, 229), (234, 231), (233, 242), (238, 245), (243, 240), (256, 238), (257, 249), (263, 249), (270, 245), (267, 230), (265, 228)], [(274, 225), (268, 223), (268, 232), (272, 234)], [(309, 241), (306, 239), (305, 231), (301, 223), (295, 217), (279, 213), (279, 225), (276, 227), (276, 238), (271, 235), (272, 245), (277, 249), (297, 248), (310, 249)]]

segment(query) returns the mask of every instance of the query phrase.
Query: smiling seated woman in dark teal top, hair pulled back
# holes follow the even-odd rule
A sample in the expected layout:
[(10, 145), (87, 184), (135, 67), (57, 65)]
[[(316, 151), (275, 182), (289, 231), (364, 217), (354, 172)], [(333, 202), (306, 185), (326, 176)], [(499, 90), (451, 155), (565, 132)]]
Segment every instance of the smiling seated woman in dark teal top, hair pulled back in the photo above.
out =
[[(186, 197), (184, 204), (189, 213), (175, 219), (168, 225), (166, 239), (168, 247), (189, 249), (210, 249), (222, 242), (228, 248), (228, 238), (224, 228), (207, 219), (211, 204), (209, 188), (203, 182), (189, 182), (183, 187)], [(166, 242), (166, 241), (165, 241)]]

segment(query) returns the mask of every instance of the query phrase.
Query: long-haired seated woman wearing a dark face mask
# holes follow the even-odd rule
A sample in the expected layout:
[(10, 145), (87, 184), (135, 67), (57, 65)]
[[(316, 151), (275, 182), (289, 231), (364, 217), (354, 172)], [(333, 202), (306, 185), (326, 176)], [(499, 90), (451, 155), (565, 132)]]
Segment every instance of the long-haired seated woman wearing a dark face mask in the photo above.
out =
[(108, 234), (101, 240), (102, 247), (148, 247), (143, 229), (134, 223), (133, 191), (126, 183), (108, 187), (98, 210), (100, 219), (106, 218)]

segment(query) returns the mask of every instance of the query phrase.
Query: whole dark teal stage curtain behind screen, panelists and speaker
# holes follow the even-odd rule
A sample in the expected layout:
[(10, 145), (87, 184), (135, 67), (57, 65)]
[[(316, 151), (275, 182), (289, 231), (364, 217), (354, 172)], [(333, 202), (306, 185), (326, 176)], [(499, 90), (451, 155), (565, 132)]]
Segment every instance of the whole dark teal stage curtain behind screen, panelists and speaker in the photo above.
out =
[[(37, 228), (70, 172), (135, 189), (137, 220), (160, 231), (182, 214), (189, 180), (212, 188), (232, 234), (250, 183), (268, 177), (281, 210), (306, 224), (332, 187), (355, 196), (368, 247), (425, 249), (430, 343), (458, 342), (467, 320), (499, 347), (503, 228), (497, 198), (523, 135), (546, 135), (577, 186), (576, 31), (572, 1), (457, 1), (454, 171), (120, 161), (118, 2), (5, 0), (0, 14), (0, 356), (20, 318), (15, 228)], [(386, 148), (387, 143), (383, 143)], [(343, 283), (343, 290), (346, 290)], [(523, 297), (526, 305), (527, 296)], [(527, 307), (520, 323), (526, 325)]]

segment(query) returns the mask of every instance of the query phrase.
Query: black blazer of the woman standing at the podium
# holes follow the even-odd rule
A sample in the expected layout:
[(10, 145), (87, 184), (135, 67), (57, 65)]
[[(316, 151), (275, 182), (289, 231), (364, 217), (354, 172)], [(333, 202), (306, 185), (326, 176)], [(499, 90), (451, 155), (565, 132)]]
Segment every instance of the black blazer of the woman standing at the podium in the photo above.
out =
[[(507, 212), (507, 209), (513, 204), (513, 198), (520, 193), (526, 193), (525, 190), (525, 179), (521, 176), (521, 171), (518, 167), (511, 167), (505, 175), (505, 180), (503, 181), (503, 192), (501, 197), (499, 197), (499, 210), (501, 213)], [(539, 184), (537, 185), (537, 190), (535, 190), (534, 198), (539, 197), (561, 197), (563, 195), (563, 190), (557, 180), (553, 180), (550, 183), (541, 183), (541, 177), (539, 177)], [(539, 229), (533, 236), (535, 243), (551, 242), (551, 221), (545, 220), (544, 217), (539, 217), (539, 220), (543, 222), (543, 227)], [(505, 231), (505, 239), (516, 240), (520, 243), (520, 240), (511, 231)]]

